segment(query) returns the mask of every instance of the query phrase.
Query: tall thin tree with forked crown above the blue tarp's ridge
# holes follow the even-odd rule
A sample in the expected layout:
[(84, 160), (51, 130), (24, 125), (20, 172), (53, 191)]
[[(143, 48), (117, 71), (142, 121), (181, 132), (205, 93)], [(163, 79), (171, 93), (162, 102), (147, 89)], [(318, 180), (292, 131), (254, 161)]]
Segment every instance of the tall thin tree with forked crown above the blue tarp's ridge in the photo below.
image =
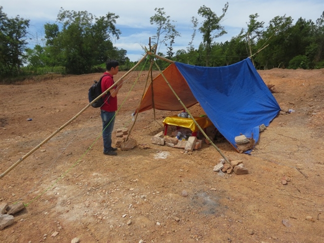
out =
[[(198, 9), (198, 14), (204, 18), (202, 25), (199, 27), (200, 32), (202, 33), (202, 41), (206, 49), (206, 66), (208, 66), (209, 55), (211, 52), (211, 44), (213, 40), (225, 33), (224, 27), (220, 25), (223, 17), (228, 8), (228, 2), (225, 3), (222, 14), (218, 17), (216, 13), (211, 11), (209, 7), (202, 5)], [(213, 31), (216, 31), (213, 33)]]

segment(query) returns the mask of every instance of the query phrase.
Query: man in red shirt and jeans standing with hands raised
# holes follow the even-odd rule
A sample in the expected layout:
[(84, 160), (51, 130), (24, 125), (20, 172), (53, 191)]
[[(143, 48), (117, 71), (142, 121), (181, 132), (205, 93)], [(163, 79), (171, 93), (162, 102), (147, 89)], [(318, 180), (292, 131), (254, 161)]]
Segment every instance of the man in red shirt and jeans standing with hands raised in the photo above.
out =
[(102, 119), (102, 138), (103, 154), (117, 155), (117, 148), (111, 146), (111, 133), (115, 120), (115, 111), (117, 110), (117, 93), (122, 84), (114, 85), (113, 75), (118, 72), (118, 62), (116, 60), (106, 61), (106, 71), (101, 79), (101, 91), (104, 92), (110, 86), (113, 86), (106, 95), (103, 95), (105, 102), (100, 107), (100, 116)]

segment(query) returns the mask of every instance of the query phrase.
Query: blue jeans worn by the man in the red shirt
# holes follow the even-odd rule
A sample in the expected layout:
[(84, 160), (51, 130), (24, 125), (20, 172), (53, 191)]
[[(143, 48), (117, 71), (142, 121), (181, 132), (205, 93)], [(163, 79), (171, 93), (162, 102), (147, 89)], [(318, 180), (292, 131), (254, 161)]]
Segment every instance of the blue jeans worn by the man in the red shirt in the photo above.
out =
[(111, 133), (115, 119), (115, 111), (108, 112), (101, 109), (100, 112), (102, 120), (102, 138), (103, 138), (103, 152), (111, 150)]

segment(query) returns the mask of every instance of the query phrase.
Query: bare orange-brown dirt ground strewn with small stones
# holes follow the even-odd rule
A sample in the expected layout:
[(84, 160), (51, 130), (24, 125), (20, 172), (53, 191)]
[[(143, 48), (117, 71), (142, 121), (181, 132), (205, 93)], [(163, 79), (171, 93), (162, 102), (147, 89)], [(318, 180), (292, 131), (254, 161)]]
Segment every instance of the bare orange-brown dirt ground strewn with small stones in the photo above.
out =
[[(0, 242), (324, 242), (324, 69), (258, 72), (294, 112), (274, 118), (250, 155), (215, 140), (248, 174), (213, 171), (222, 157), (205, 143), (192, 152), (152, 144), (170, 111), (140, 113), (130, 133), (138, 145), (104, 155), (99, 109), (89, 107), (0, 179), (0, 204), (27, 205)], [(0, 85), (0, 173), (84, 108), (99, 77)], [(115, 129), (132, 126), (146, 72), (128, 77)]]

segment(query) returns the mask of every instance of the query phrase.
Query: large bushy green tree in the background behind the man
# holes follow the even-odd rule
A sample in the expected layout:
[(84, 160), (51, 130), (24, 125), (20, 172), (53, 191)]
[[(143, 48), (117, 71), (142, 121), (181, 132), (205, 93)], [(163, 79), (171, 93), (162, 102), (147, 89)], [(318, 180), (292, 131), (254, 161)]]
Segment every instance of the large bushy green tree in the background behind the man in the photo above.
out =
[(118, 17), (110, 12), (96, 17), (87, 11), (61, 8), (57, 14), (61, 30), (55, 23), (44, 25), (45, 49), (52, 56), (52, 64), (65, 66), (67, 73), (81, 74), (91, 72), (94, 65), (105, 62), (107, 57), (124, 58), (116, 54), (118, 49), (111, 42), (113, 36), (118, 39), (121, 33), (115, 27)]

